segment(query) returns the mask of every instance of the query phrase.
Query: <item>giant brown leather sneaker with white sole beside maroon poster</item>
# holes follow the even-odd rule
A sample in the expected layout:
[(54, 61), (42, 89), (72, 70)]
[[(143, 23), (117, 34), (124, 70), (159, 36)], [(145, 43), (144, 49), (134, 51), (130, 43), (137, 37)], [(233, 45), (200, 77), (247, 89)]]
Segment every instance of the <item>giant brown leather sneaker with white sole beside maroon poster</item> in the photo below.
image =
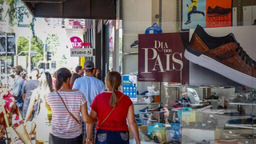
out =
[(185, 57), (244, 86), (256, 89), (256, 62), (234, 38), (234, 34), (212, 37), (197, 26)]

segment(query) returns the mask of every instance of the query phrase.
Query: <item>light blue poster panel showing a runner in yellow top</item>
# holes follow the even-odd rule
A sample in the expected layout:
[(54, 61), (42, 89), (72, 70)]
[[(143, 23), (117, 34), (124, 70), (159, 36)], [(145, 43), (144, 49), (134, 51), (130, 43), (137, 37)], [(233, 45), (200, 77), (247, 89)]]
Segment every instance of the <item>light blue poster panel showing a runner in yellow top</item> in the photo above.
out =
[(206, 27), (206, 0), (182, 0), (182, 30)]

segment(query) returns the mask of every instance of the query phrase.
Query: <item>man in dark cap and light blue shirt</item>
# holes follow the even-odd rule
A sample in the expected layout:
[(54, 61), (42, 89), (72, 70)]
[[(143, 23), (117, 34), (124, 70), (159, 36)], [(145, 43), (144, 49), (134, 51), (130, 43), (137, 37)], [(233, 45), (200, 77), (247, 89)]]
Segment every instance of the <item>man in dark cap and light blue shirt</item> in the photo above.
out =
[[(106, 91), (103, 82), (94, 77), (94, 62), (87, 61), (84, 63), (85, 76), (78, 78), (74, 82), (73, 90), (79, 90), (86, 96), (88, 113), (90, 112), (90, 104), (93, 102), (96, 95)], [(95, 130), (96, 125), (94, 125)], [(94, 131), (87, 134), (87, 137), (94, 138)], [(82, 138), (83, 143), (86, 143), (86, 123), (82, 122)]]

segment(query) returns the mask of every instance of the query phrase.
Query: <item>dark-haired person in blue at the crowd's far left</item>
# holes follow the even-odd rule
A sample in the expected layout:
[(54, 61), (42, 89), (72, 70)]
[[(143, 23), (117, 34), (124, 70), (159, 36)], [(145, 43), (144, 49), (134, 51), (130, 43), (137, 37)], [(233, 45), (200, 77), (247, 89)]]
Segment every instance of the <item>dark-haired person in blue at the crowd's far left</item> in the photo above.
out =
[[(22, 78), (23, 68), (22, 66), (16, 66), (14, 69), (15, 80), (12, 94), (14, 95), (16, 105), (18, 106), (20, 114), (22, 114), (23, 98), (22, 98), (22, 87), (24, 85), (24, 79)], [(22, 117), (23, 118), (23, 117)]]

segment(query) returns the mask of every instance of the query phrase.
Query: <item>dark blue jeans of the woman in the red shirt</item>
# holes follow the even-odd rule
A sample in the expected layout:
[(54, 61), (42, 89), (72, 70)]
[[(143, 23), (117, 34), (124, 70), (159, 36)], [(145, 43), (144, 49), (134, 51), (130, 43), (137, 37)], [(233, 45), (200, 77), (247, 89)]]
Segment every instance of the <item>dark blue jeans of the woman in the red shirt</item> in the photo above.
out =
[(95, 144), (129, 144), (129, 131), (97, 130)]

